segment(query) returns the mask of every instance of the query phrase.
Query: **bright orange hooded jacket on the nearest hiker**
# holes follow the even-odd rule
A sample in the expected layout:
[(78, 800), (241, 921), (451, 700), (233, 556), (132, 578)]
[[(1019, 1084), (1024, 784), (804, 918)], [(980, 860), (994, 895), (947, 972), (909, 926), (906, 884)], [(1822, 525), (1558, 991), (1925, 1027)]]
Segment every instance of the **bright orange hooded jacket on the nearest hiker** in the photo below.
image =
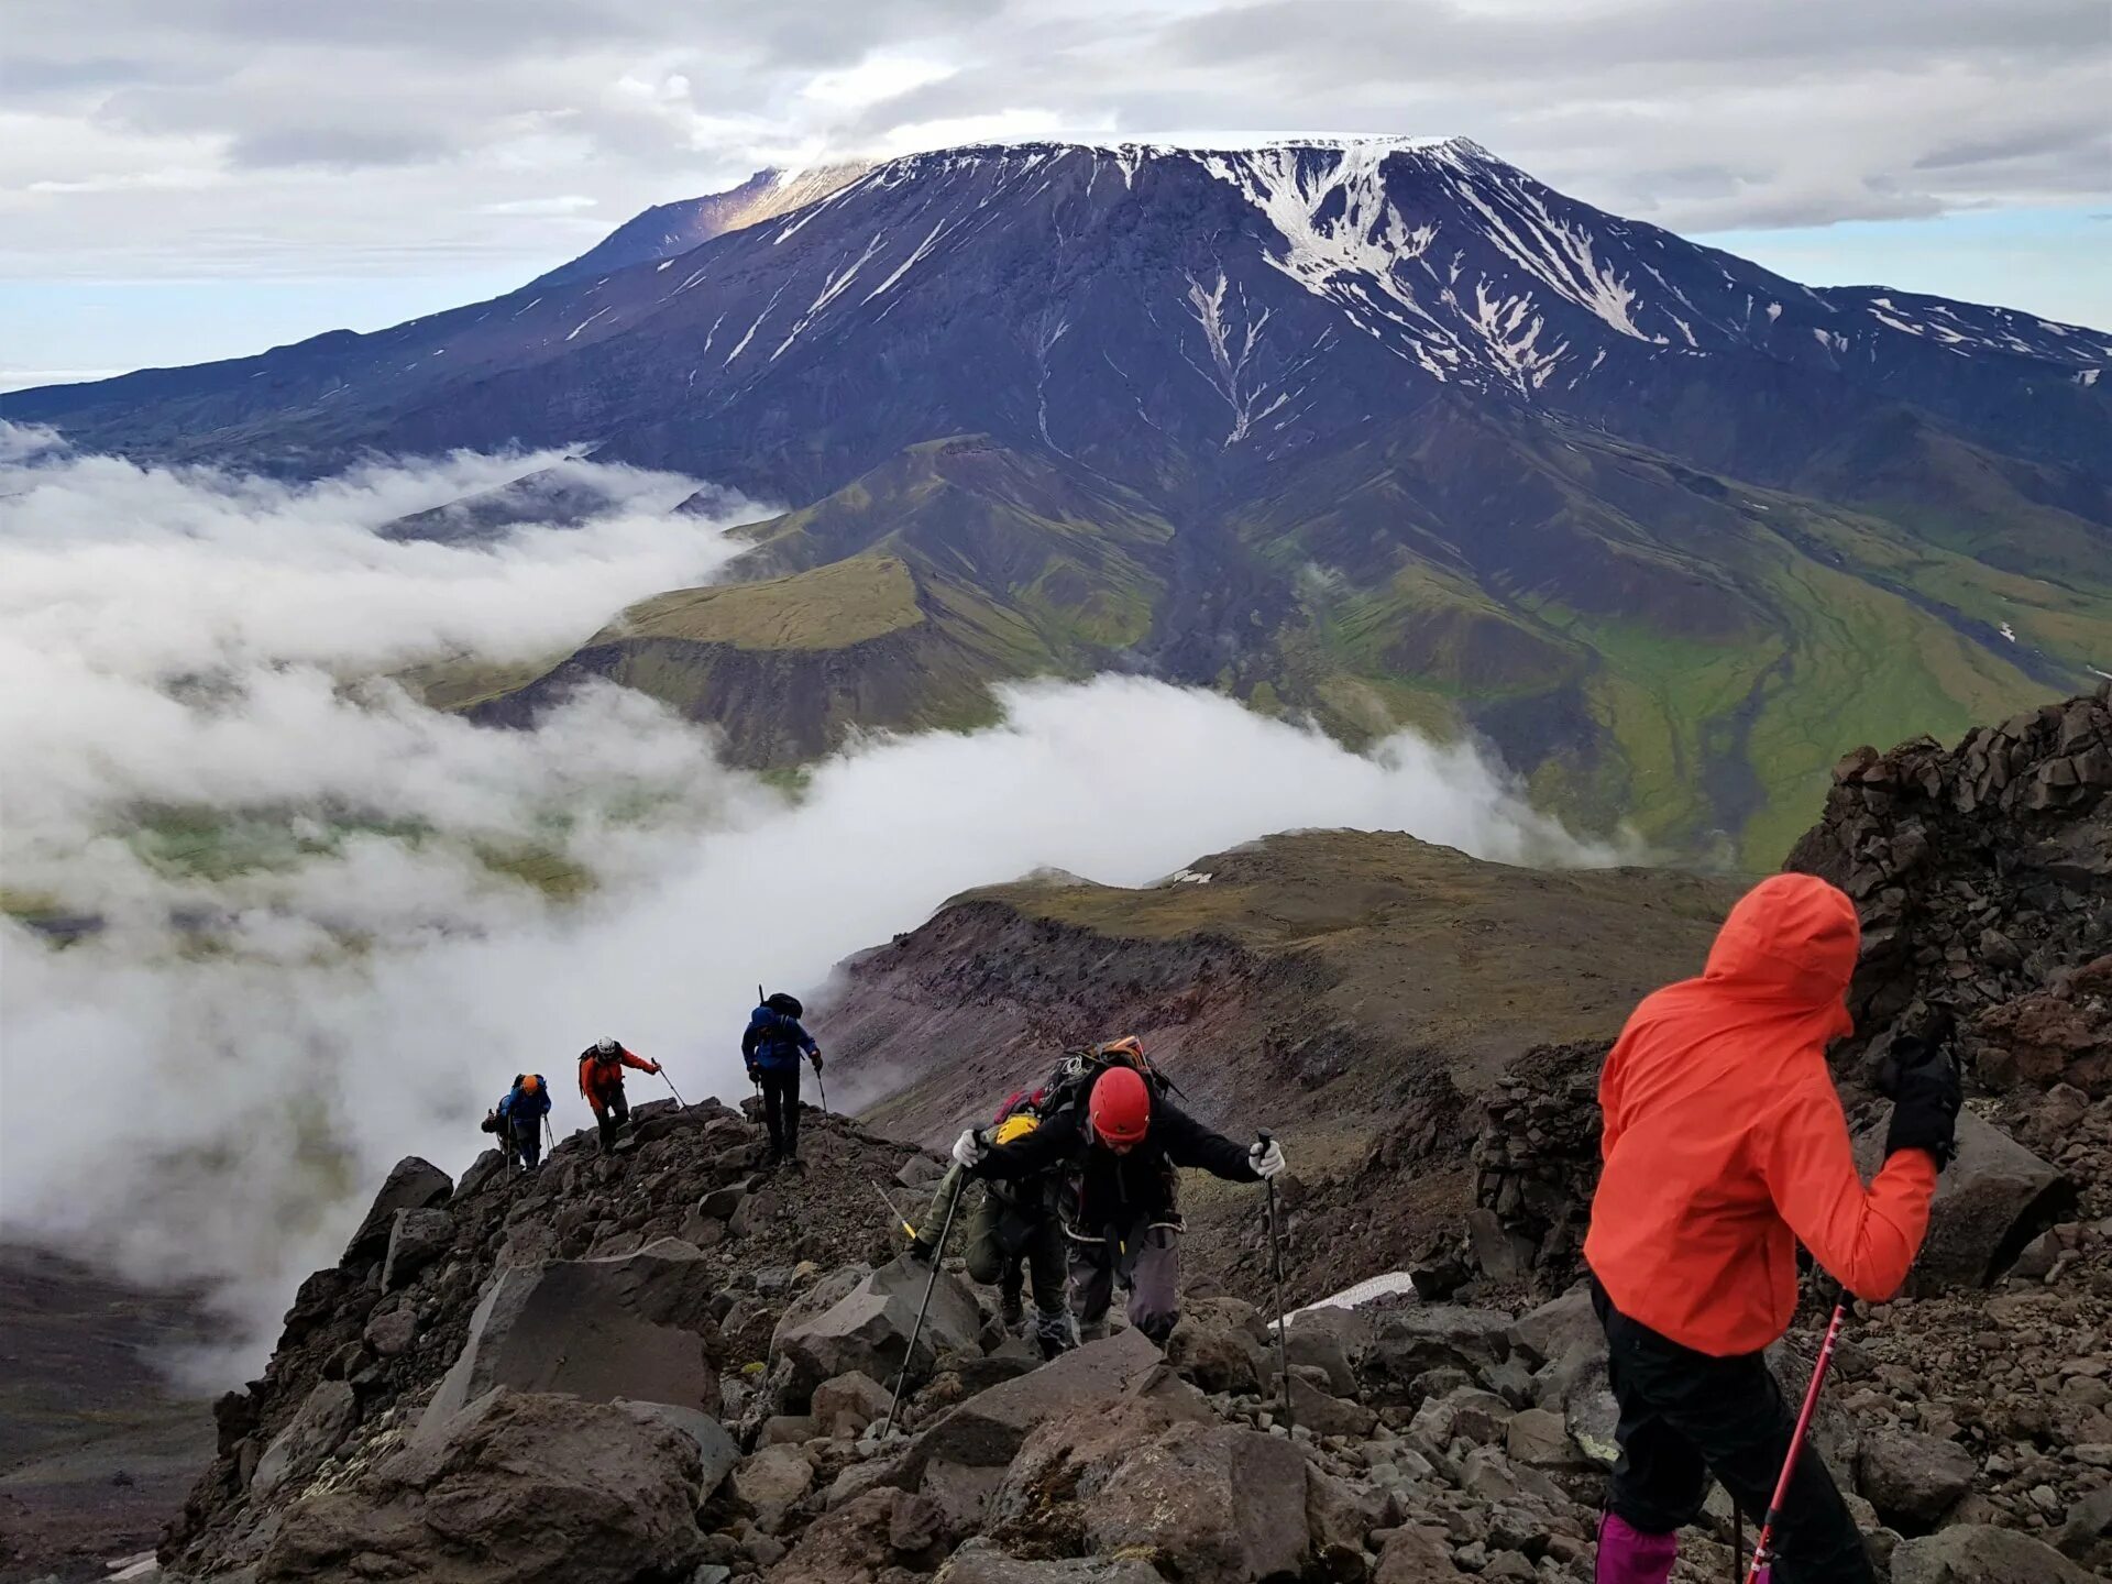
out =
[(1863, 1187), (1827, 1041), (1861, 927), (1810, 874), (1730, 910), (1698, 980), (1647, 997), (1599, 1077), (1605, 1172), (1584, 1261), (1614, 1307), (1692, 1347), (1753, 1354), (1797, 1307), (1797, 1242), (1850, 1293), (1890, 1299), (1922, 1246), (1937, 1164), (1892, 1155)]

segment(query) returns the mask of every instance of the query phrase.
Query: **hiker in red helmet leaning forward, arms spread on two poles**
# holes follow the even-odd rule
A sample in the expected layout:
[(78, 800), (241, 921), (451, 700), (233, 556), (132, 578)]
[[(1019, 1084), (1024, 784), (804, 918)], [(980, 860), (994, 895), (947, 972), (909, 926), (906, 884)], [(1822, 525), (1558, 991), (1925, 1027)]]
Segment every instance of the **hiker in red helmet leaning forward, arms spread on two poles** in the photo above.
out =
[(1166, 1098), (1136, 1039), (1071, 1058), (1043, 1107), (1041, 1126), (1005, 1145), (969, 1128), (953, 1147), (955, 1162), (991, 1181), (1024, 1181), (1062, 1166), (1079, 1341), (1107, 1335), (1119, 1278), (1130, 1286), (1130, 1324), (1164, 1343), (1181, 1318), (1176, 1168), (1261, 1183), (1284, 1168), (1284, 1151), (1276, 1143), (1238, 1145), (1187, 1115)]

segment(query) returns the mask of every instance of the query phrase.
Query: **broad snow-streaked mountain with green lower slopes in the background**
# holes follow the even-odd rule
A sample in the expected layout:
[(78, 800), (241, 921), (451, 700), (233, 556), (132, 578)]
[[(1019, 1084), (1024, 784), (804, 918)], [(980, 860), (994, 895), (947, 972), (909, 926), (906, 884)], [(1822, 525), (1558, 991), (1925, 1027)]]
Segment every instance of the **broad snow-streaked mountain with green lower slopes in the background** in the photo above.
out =
[[(298, 471), (579, 444), (784, 501), (735, 577), (885, 553), (921, 621), (769, 661), (646, 661), (619, 623), (484, 705), (621, 674), (756, 762), (1147, 665), (1352, 739), (1474, 731), (1576, 817), (1761, 864), (1844, 720), (1949, 733), (2112, 670), (2112, 336), (1802, 287), (1459, 139), (961, 148), (771, 192), (0, 416)], [(841, 596), (767, 602), (809, 591)]]

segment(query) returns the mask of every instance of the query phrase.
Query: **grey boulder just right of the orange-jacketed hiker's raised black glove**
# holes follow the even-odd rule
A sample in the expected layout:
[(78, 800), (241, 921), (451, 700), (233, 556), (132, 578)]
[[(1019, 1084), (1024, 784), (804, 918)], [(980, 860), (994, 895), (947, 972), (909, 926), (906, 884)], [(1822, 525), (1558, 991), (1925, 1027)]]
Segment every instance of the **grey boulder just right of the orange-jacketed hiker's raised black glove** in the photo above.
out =
[[(1884, 1155), (1890, 1113), (1856, 1136), (1865, 1174)], [(1958, 1115), (1958, 1159), (1937, 1183), (1928, 1206), (1928, 1236), (1907, 1278), (1907, 1293), (1930, 1297), (1943, 1288), (1987, 1286), (2040, 1231), (2076, 1202), (2074, 1183), (2006, 1132), (1966, 1109)]]

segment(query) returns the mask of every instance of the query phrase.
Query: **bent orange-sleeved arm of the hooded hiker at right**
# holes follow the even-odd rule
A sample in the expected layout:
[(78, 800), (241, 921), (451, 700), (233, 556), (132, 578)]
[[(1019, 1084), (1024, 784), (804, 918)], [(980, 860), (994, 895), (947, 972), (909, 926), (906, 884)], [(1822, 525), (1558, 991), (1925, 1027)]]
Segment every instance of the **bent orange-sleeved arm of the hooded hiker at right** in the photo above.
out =
[(1774, 1208), (1812, 1259), (1859, 1299), (1897, 1297), (1928, 1231), (1935, 1157), (1894, 1151), (1865, 1189), (1848, 1117), (1825, 1079), (1797, 1086), (1768, 1117), (1757, 1147)]

